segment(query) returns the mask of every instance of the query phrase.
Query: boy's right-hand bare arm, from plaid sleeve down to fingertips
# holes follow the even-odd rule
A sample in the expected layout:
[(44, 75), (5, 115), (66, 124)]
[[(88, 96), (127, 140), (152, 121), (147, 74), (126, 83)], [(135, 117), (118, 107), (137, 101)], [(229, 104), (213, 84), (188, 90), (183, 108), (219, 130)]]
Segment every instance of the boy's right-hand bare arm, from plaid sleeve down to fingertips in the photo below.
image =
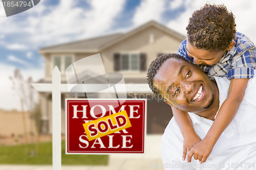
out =
[(187, 161), (194, 155), (200, 163), (205, 162), (215, 143), (236, 115), (244, 98), (245, 89), (249, 79), (231, 79), (227, 99), (223, 102), (214, 123), (205, 138), (198, 142), (187, 154)]

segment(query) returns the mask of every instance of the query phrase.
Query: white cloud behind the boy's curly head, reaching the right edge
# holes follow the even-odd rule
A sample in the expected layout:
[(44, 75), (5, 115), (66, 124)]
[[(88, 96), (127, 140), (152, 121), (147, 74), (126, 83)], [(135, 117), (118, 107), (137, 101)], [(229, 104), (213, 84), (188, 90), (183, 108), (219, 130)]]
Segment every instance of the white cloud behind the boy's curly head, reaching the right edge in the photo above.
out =
[[(182, 6), (186, 9), (178, 18), (167, 23), (167, 27), (186, 35), (186, 26), (191, 14), (200, 9), (206, 2), (201, 0), (185, 0)], [(229, 11), (236, 16), (237, 31), (247, 35), (254, 43), (256, 43), (256, 22), (252, 21), (253, 16), (256, 16), (256, 1), (221, 1), (209, 0), (210, 4), (224, 4)]]

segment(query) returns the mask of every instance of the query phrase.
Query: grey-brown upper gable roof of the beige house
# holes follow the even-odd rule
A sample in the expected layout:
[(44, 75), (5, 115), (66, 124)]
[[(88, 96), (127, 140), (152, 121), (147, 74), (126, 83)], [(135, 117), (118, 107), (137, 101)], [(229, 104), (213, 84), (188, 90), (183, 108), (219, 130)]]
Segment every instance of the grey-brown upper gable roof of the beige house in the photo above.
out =
[(39, 53), (63, 53), (63, 52), (75, 52), (75, 53), (99, 53), (101, 50), (108, 48), (130, 36), (154, 26), (163, 32), (173, 36), (174, 38), (182, 41), (186, 37), (180, 33), (171, 30), (156, 21), (146, 22), (144, 25), (137, 27), (136, 29), (123, 33), (116, 33), (111, 35), (100, 36), (96, 38), (84, 39), (79, 41), (73, 41), (63, 44), (57, 44), (53, 46), (43, 47), (39, 49)]

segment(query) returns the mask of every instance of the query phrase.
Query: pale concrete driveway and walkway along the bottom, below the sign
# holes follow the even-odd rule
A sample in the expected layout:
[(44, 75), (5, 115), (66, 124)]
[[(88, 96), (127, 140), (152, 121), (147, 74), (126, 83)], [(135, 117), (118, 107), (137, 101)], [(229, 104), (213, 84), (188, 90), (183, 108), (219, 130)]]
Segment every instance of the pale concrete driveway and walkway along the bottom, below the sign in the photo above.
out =
[[(1, 170), (50, 170), (51, 165), (0, 165)], [(161, 135), (147, 135), (144, 154), (113, 154), (106, 166), (67, 166), (62, 170), (163, 169)]]

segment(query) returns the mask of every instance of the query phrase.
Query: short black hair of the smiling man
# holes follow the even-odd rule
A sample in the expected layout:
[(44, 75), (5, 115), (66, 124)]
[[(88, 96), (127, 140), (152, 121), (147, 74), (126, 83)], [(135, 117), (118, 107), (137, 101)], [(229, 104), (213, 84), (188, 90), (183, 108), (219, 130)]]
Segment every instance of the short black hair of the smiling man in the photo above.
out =
[(161, 65), (170, 58), (188, 62), (184, 57), (178, 54), (165, 54), (158, 57), (156, 60), (152, 61), (150, 67), (148, 67), (148, 70), (147, 70), (147, 84), (150, 86), (152, 92), (159, 95), (160, 97), (162, 97), (161, 91), (157, 89), (153, 84), (154, 77), (156, 76), (157, 71), (159, 70)]

